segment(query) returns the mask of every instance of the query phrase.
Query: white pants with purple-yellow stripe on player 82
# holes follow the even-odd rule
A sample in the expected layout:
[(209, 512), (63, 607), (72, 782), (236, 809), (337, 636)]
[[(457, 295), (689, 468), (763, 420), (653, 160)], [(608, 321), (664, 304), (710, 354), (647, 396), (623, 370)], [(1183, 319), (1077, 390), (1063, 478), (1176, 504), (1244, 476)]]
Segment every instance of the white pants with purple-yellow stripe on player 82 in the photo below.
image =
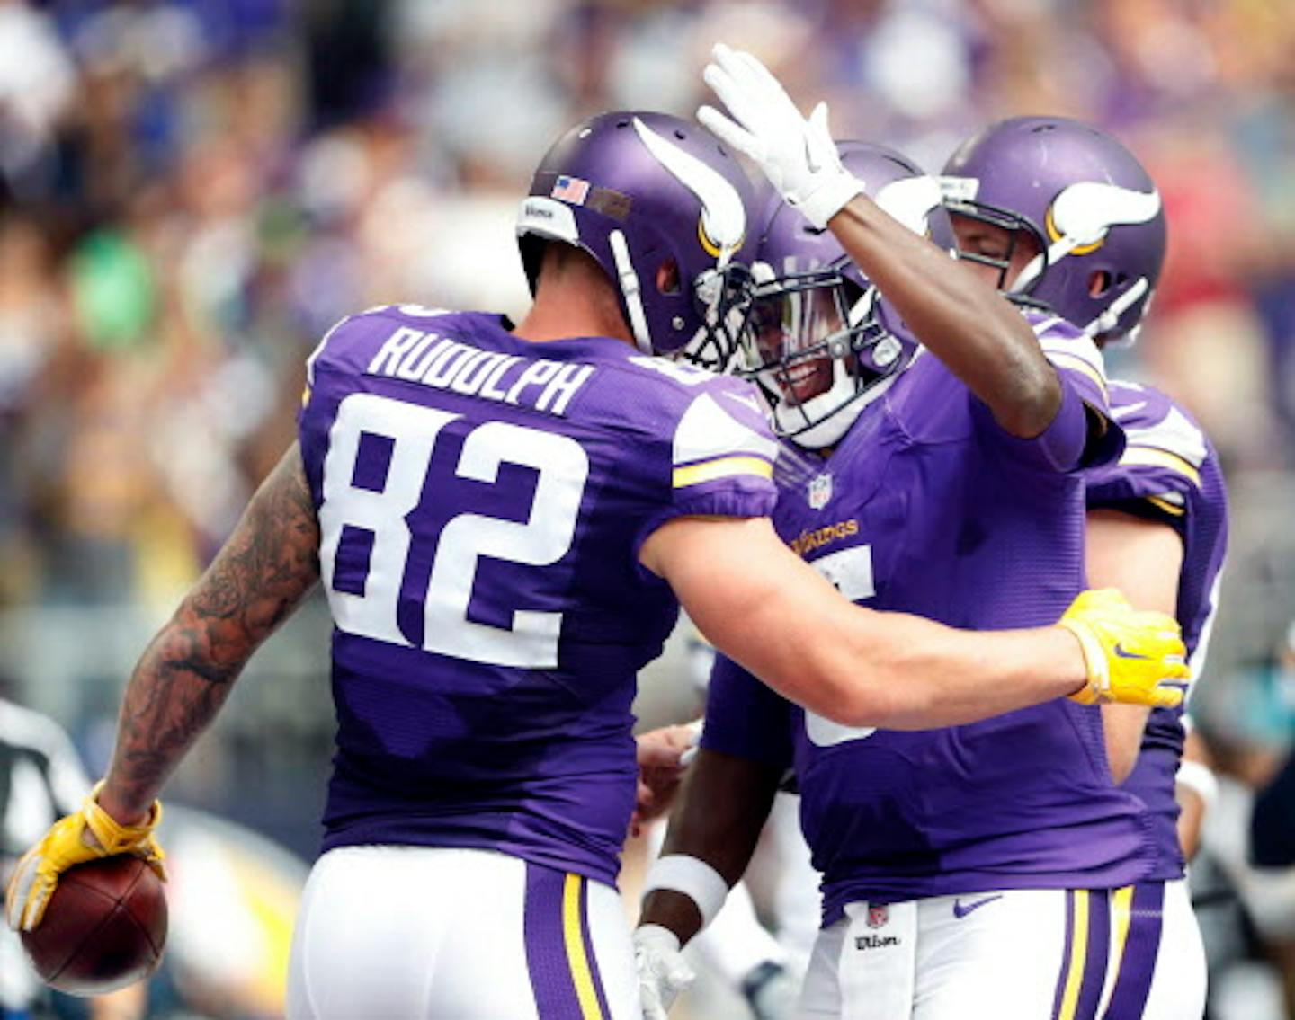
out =
[(640, 1020), (620, 896), (490, 850), (330, 850), (306, 883), (287, 1016)]

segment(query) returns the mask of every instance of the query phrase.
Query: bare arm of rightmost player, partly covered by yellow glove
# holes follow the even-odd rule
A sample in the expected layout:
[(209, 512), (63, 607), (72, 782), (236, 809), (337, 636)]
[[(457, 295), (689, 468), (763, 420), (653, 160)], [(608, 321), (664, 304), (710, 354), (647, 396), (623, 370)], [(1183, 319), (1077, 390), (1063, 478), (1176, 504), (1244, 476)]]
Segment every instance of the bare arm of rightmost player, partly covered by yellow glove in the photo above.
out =
[[(1085, 536), (1089, 584), (1119, 588), (1136, 607), (1173, 615), (1182, 570), (1182, 540), (1173, 528), (1098, 509), (1088, 513)], [(1143, 705), (1102, 705), (1106, 760), (1116, 783), (1133, 771), (1149, 712)]]

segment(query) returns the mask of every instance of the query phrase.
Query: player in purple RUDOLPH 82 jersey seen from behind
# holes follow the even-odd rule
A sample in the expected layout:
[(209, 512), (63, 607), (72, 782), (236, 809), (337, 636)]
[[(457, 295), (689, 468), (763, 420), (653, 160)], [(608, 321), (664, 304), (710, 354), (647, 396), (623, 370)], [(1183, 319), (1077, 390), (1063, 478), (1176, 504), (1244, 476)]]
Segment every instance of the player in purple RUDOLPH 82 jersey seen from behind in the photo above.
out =
[(320, 342), (299, 443), (145, 651), (109, 774), (19, 863), (12, 927), (39, 924), (78, 861), (159, 862), (167, 775), (316, 580), (338, 734), (291, 1017), (637, 1012), (614, 885), (629, 707), (680, 602), (847, 725), (1175, 700), (1158, 685), (1185, 667), (1163, 615), (1088, 593), (1062, 626), (1002, 634), (883, 617), (778, 541), (755, 392), (655, 356), (724, 348), (746, 190), (693, 124), (592, 118), (522, 203), (535, 303), (515, 327), (403, 304)]

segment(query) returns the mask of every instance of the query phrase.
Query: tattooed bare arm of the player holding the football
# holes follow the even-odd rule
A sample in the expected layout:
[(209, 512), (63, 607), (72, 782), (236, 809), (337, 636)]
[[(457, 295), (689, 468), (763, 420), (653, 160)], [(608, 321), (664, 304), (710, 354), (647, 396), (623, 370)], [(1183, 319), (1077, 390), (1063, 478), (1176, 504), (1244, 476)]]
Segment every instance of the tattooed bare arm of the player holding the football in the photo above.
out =
[(319, 538), (294, 443), (135, 667), (98, 795), (118, 822), (148, 814), (253, 652), (310, 594), (319, 580)]

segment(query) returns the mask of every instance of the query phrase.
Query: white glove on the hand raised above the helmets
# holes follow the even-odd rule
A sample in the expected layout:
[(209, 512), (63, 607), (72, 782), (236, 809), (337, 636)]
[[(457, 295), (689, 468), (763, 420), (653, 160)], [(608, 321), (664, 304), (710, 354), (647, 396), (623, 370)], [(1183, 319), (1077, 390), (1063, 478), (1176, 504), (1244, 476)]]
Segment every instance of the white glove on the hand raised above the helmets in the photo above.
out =
[(778, 79), (750, 53), (717, 43), (711, 60), (702, 76), (729, 116), (703, 106), (697, 119), (759, 163), (787, 205), (824, 229), (864, 190), (864, 183), (840, 164), (828, 131), (828, 104), (820, 102), (805, 119)]

